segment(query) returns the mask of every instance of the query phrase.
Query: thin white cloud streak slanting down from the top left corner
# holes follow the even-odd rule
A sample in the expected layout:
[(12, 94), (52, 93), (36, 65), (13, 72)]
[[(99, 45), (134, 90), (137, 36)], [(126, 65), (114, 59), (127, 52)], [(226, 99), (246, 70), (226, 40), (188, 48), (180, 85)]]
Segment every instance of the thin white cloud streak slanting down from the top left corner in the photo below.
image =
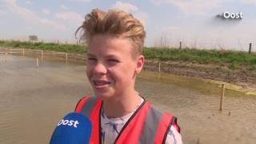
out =
[(28, 10), (22, 6), (18, 6), (16, 3), (16, 0), (5, 0), (6, 6), (8, 9), (14, 13), (20, 16), (21, 18), (25, 18), (26, 20), (32, 21), (32, 22), (38, 22), (41, 24), (46, 24), (49, 26), (53, 26), (56, 29), (59, 30), (64, 30), (66, 29), (66, 26), (62, 24), (58, 24), (57, 22), (50, 21), (49, 19), (46, 18), (40, 18), (38, 15), (34, 14), (31, 10)]

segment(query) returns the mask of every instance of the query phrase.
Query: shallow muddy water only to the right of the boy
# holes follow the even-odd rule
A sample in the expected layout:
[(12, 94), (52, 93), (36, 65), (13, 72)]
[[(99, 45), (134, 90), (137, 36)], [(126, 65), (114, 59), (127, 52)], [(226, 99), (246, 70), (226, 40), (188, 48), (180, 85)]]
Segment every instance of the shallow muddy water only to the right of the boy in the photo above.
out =
[(150, 102), (177, 115), (184, 143), (256, 142), (255, 97), (227, 90), (224, 110), (219, 112), (218, 86), (199, 82), (197, 78), (170, 77), (163, 76), (177, 81), (141, 79), (138, 87)]

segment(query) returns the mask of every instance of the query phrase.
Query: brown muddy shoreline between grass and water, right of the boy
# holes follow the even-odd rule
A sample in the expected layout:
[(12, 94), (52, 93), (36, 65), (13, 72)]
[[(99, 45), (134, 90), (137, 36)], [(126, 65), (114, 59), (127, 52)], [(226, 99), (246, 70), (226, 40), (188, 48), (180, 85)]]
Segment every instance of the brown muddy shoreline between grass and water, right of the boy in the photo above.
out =
[[(146, 62), (144, 70), (159, 71), (159, 63), (156, 60)], [(161, 62), (161, 72), (166, 74), (176, 74), (185, 77), (203, 78), (206, 81), (213, 83), (228, 83), (239, 87), (237, 89), (244, 89), (256, 93), (256, 71), (248, 70), (243, 66), (239, 70), (231, 70), (229, 66), (218, 64), (199, 64), (193, 62), (183, 61), (166, 61)], [(234, 87), (234, 86), (232, 86)]]

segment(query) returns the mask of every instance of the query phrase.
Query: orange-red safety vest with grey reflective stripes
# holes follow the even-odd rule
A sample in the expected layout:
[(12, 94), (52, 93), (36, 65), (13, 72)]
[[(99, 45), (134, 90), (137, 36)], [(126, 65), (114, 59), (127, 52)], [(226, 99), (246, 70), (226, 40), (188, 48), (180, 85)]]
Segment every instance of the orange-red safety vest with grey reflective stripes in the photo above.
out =
[[(101, 110), (102, 99), (86, 96), (82, 98), (75, 112), (85, 114), (92, 122), (90, 144), (100, 144), (101, 140)], [(144, 101), (141, 106), (126, 122), (118, 134), (115, 144), (150, 144), (165, 143), (170, 126), (174, 126), (178, 132), (177, 118), (172, 114), (162, 113), (160, 110)]]

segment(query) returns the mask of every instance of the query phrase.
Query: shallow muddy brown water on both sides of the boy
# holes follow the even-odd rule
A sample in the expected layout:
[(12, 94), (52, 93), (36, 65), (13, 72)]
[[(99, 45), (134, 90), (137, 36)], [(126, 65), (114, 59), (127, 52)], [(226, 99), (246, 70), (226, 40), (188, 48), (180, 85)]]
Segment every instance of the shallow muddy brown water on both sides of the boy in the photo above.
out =
[[(39, 59), (40, 60), (40, 59)], [(178, 117), (184, 143), (255, 143), (256, 97), (226, 91), (198, 78), (142, 73), (136, 89), (148, 101)], [(0, 143), (47, 143), (59, 119), (92, 90), (85, 66), (44, 58), (0, 54)]]

